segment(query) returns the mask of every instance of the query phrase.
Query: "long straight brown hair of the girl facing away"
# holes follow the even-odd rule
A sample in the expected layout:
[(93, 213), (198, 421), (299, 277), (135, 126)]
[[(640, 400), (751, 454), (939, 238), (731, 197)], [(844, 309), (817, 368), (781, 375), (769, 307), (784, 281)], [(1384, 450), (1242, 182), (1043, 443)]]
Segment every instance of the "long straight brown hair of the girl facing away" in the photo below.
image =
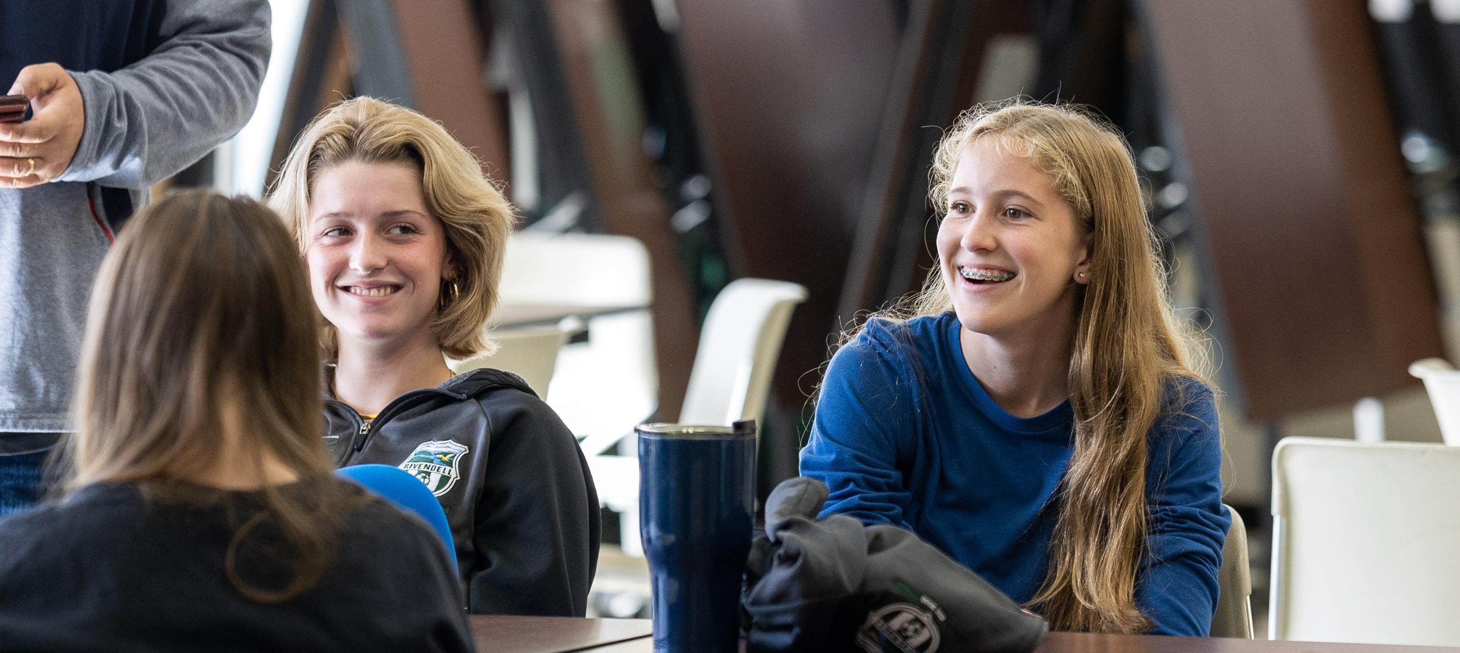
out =
[[(352, 504), (331, 482), (320, 421), (318, 332), (308, 280), (279, 217), (248, 198), (171, 194), (140, 211), (107, 254), (82, 344), (74, 436), (60, 450), (74, 491), (136, 482), (152, 498), (210, 503), (190, 481), (222, 466), (264, 485), (263, 510), (237, 525), (228, 573), (245, 596), (285, 601), (331, 560), (336, 526)], [(237, 447), (219, 433), (248, 431)], [(237, 453), (226, 458), (228, 452)], [(311, 491), (307, 500), (264, 484), (273, 458)], [(270, 523), (269, 526), (263, 526)], [(234, 561), (282, 535), (293, 571), (283, 589), (244, 580)], [(292, 564), (291, 564), (292, 563)]]

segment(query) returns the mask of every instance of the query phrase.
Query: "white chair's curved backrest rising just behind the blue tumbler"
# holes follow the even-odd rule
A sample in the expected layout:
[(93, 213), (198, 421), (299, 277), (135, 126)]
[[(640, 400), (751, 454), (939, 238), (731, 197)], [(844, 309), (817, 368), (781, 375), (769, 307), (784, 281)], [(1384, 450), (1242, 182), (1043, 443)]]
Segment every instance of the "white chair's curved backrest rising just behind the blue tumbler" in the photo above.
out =
[(762, 420), (785, 328), (804, 300), (806, 287), (790, 281), (730, 281), (705, 316), (679, 423)]

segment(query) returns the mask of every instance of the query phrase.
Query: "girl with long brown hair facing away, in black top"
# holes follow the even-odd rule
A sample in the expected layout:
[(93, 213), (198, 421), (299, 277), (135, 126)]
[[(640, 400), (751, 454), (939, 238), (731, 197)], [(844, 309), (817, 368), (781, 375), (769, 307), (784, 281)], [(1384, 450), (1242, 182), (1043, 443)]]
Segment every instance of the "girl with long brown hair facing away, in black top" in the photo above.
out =
[(261, 204), (128, 222), (92, 290), (64, 501), (0, 520), (15, 650), (472, 650), (441, 539), (334, 478), (304, 267)]

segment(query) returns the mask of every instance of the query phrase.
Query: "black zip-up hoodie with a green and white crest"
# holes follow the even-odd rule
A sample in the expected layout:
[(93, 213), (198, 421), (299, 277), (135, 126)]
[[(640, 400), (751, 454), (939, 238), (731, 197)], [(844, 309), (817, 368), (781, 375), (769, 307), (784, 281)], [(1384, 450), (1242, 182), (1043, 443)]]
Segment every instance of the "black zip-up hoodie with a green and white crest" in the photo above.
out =
[(441, 500), (472, 614), (584, 615), (599, 494), (578, 440), (521, 378), (472, 370), (369, 424), (326, 394), (324, 414), (336, 466), (394, 465)]

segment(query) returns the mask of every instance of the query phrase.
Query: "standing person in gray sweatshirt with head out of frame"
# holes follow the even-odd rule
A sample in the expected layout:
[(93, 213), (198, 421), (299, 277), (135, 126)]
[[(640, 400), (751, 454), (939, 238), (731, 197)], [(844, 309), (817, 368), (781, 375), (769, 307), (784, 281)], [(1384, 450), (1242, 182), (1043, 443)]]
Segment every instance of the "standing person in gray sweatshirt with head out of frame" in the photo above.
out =
[(147, 187), (253, 115), (267, 0), (0, 4), (0, 515), (35, 504), (102, 255)]

